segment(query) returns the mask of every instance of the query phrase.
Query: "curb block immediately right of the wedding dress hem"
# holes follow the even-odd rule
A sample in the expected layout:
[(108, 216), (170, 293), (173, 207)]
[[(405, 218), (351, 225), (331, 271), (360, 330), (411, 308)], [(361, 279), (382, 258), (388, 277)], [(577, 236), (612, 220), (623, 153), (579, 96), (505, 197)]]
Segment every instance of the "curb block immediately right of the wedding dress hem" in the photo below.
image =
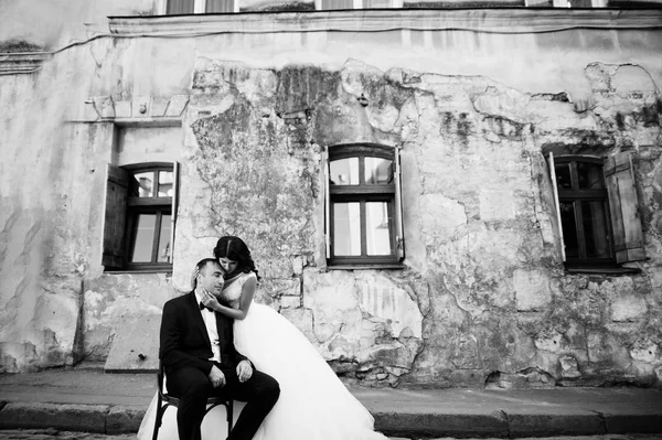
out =
[(508, 420), (501, 411), (472, 414), (376, 412), (375, 429), (393, 434), (508, 438)]

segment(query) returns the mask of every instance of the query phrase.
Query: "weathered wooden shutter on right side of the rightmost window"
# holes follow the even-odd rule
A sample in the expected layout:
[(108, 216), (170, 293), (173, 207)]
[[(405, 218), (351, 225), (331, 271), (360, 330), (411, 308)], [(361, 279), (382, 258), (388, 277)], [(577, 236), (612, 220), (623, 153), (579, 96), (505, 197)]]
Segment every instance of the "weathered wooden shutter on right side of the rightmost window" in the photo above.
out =
[(634, 170), (630, 153), (619, 153), (605, 161), (605, 181), (609, 194), (609, 213), (613, 230), (617, 262), (645, 259)]

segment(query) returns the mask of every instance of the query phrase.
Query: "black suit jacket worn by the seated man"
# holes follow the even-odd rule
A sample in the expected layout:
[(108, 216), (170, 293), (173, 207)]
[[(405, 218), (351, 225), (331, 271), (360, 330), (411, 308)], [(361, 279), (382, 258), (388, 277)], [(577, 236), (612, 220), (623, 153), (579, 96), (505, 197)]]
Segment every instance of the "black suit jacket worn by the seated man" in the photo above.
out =
[[(246, 356), (234, 346), (234, 320), (217, 312), (215, 315), (221, 367), (235, 368)], [(194, 291), (173, 298), (163, 305), (160, 339), (159, 358), (163, 363), (166, 375), (183, 367), (199, 368), (204, 374), (212, 369), (212, 344)]]

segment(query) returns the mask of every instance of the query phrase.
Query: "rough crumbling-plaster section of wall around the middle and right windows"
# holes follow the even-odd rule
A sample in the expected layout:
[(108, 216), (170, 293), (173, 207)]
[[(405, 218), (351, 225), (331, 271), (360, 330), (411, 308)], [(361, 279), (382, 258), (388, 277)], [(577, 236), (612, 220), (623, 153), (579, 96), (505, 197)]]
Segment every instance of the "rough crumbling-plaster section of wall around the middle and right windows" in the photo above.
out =
[[(586, 77), (590, 109), (488, 77), (200, 58), (178, 260), (201, 238), (211, 253), (220, 235), (245, 237), (266, 278), (258, 298), (349, 379), (659, 384), (660, 242), (649, 222), (661, 100), (639, 66), (591, 64)], [(408, 270), (324, 267), (319, 146), (356, 141), (403, 144)], [(559, 146), (638, 157), (652, 257), (642, 275), (564, 273), (543, 157)]]

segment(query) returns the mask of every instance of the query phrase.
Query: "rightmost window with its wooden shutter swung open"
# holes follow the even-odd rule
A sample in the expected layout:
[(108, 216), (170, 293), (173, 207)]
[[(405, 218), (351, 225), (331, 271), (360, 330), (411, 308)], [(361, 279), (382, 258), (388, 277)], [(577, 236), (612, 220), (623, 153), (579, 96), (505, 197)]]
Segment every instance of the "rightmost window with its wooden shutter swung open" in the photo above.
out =
[(608, 268), (643, 259), (629, 154), (548, 159), (566, 266)]

